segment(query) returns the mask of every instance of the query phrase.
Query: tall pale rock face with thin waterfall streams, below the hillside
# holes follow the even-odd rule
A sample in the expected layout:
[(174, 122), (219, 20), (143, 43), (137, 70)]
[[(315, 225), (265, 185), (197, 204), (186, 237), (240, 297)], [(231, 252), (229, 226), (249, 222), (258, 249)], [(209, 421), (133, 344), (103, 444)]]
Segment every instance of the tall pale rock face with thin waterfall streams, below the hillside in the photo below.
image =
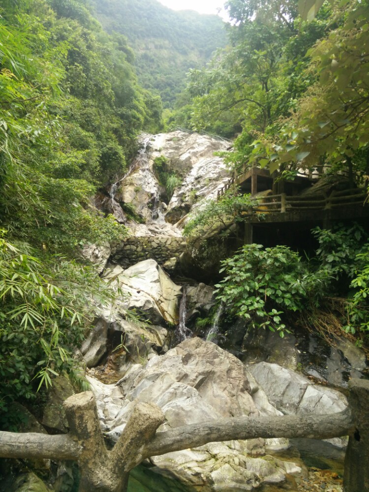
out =
[[(229, 179), (223, 159), (214, 155), (225, 151), (228, 142), (183, 131), (144, 134), (141, 140), (142, 148), (127, 174), (105, 195), (96, 196), (100, 210), (112, 213), (118, 221), (127, 222), (121, 208), (125, 204), (146, 224), (155, 222), (158, 213), (165, 216), (166, 222), (176, 224), (192, 207), (196, 208), (201, 199), (214, 199), (217, 190)], [(183, 184), (175, 190), (167, 208), (161, 204), (165, 190), (154, 172), (154, 160), (162, 156), (167, 159), (168, 173), (183, 178)]]

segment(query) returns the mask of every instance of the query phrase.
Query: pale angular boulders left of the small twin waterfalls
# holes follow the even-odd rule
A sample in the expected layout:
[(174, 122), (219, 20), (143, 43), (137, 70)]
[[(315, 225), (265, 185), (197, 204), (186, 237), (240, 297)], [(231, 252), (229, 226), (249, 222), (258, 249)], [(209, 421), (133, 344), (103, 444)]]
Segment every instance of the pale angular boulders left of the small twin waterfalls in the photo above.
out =
[[(117, 381), (130, 364), (146, 362), (168, 349), (163, 325), (178, 323), (182, 293), (181, 287), (152, 259), (126, 270), (110, 265), (103, 278), (113, 289), (119, 289), (119, 296), (111, 306), (99, 309), (81, 352), (88, 368), (108, 363), (109, 377)], [(140, 319), (146, 319), (148, 324)], [(105, 372), (104, 369), (104, 378)]]

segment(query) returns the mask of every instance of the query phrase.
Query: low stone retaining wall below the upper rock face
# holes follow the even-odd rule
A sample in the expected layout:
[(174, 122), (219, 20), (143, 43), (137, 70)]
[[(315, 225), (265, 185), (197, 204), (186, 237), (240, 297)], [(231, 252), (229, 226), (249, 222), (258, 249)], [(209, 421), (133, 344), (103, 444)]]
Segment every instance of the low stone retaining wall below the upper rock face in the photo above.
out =
[(111, 246), (111, 262), (123, 268), (139, 261), (154, 259), (159, 265), (169, 258), (178, 257), (186, 247), (184, 238), (171, 236), (128, 238)]

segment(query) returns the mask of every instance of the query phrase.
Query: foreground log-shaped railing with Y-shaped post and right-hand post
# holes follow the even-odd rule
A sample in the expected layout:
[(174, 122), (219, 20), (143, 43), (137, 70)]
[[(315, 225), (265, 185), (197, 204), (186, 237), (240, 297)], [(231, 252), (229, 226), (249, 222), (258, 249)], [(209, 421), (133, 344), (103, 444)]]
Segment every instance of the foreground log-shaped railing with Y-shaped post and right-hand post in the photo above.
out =
[(105, 447), (91, 392), (64, 402), (69, 434), (0, 432), (0, 457), (74, 460), (80, 470), (79, 492), (125, 492), (129, 471), (151, 456), (208, 442), (256, 437), (328, 439), (348, 435), (344, 492), (369, 492), (369, 380), (348, 384), (348, 407), (327, 415), (235, 417), (157, 432), (164, 415), (154, 403), (138, 403), (118, 442)]

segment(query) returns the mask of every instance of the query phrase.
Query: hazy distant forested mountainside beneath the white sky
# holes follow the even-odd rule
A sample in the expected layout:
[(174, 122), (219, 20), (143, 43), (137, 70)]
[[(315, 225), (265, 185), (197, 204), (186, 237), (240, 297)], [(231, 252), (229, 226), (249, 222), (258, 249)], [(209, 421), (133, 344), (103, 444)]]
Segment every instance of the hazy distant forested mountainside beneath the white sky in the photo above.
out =
[(110, 33), (127, 36), (135, 51), (140, 83), (173, 107), (184, 89), (185, 74), (201, 68), (227, 41), (223, 21), (215, 15), (174, 11), (156, 0), (92, 0), (94, 11)]

